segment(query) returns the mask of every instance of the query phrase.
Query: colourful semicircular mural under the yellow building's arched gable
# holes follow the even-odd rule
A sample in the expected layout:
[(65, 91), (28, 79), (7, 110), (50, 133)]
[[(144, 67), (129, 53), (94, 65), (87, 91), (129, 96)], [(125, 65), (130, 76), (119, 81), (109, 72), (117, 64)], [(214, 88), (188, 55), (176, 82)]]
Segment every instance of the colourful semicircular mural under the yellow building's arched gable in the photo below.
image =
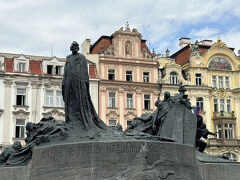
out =
[(211, 62), (208, 65), (209, 68), (213, 69), (227, 69), (232, 70), (231, 64), (228, 62), (228, 60), (222, 58), (222, 57), (216, 57), (211, 60)]

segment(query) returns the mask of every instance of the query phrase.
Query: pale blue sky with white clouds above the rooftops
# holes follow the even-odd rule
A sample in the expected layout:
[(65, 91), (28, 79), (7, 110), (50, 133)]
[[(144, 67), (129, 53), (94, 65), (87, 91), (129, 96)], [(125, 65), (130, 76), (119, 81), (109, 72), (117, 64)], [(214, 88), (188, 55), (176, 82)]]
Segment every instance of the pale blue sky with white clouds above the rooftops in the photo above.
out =
[(240, 0), (0, 0), (0, 52), (65, 57), (128, 21), (150, 50), (173, 54), (181, 37), (220, 37), (240, 49)]

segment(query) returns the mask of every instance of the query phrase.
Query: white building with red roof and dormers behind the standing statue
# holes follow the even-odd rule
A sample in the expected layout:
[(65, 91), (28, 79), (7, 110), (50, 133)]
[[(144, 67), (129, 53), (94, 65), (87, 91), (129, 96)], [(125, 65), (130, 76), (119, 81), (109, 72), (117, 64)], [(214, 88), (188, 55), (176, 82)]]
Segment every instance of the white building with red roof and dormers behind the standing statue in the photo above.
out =
[[(0, 53), (0, 151), (14, 141), (24, 144), (27, 122), (43, 116), (64, 120), (62, 77), (65, 58)], [(90, 93), (98, 112), (98, 83), (88, 61)]]

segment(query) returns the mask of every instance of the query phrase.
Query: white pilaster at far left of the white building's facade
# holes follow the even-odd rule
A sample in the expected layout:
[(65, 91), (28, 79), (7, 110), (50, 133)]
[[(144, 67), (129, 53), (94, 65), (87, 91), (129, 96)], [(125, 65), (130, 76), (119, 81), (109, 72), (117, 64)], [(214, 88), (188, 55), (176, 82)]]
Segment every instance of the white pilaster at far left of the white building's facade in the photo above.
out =
[(9, 145), (10, 139), (10, 121), (11, 121), (11, 87), (13, 82), (10, 80), (4, 81), (4, 115), (3, 115), (3, 146)]

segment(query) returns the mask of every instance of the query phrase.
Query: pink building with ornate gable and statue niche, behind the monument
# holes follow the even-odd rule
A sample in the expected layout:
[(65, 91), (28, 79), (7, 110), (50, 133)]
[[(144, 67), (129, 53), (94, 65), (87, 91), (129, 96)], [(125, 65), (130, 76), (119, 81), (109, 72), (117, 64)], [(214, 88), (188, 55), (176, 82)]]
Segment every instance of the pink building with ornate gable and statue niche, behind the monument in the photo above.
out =
[(107, 125), (125, 129), (134, 117), (155, 109), (159, 63), (136, 29), (101, 36), (90, 54), (99, 54), (99, 116)]

